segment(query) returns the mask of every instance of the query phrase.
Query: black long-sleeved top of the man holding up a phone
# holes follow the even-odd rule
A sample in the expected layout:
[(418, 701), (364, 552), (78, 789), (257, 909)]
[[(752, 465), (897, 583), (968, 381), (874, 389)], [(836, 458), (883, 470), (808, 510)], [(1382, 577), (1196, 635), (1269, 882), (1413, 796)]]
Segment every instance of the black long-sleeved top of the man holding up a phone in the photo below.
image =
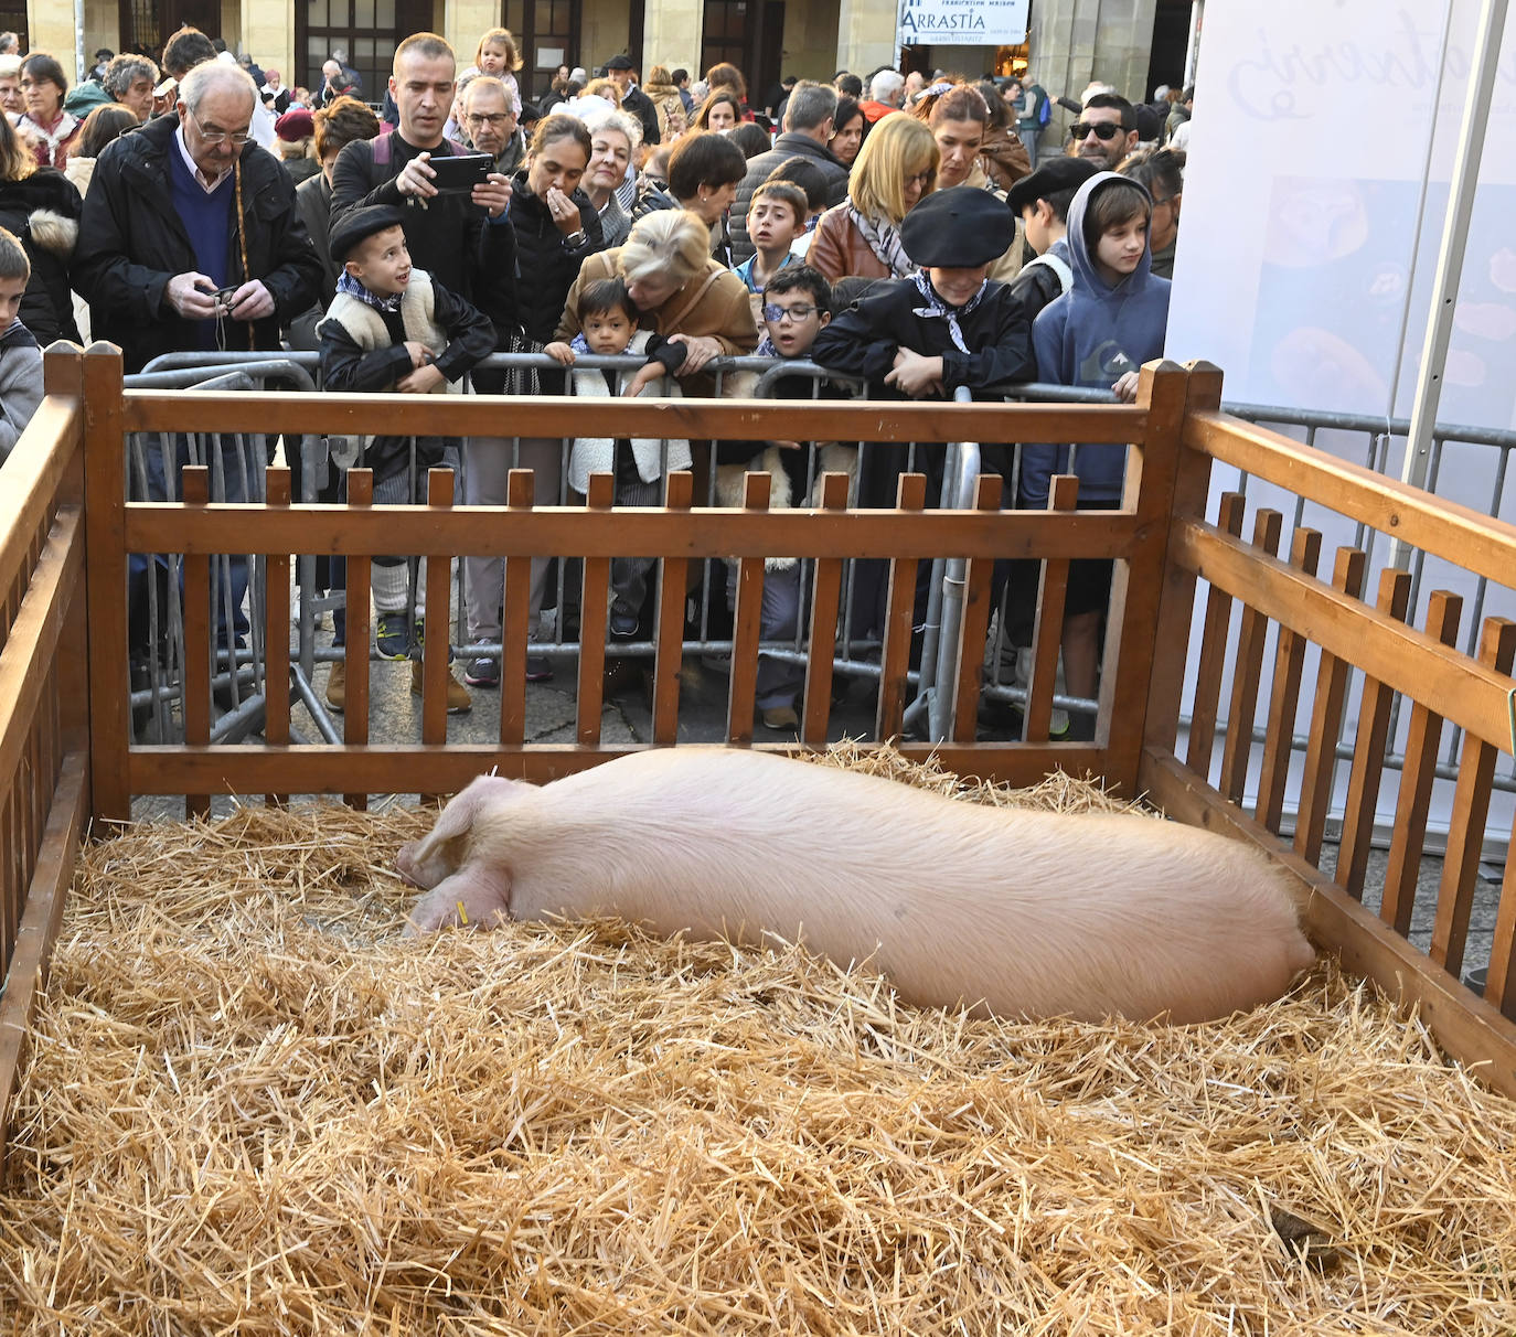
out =
[[(400, 209), (411, 262), (488, 315), (494, 321), (497, 347), (505, 347), (517, 323), (515, 229), (508, 221), (488, 220), (468, 196), (435, 196), (424, 209), (420, 200), (402, 196), (396, 177), (423, 150), (402, 139), (399, 130), (388, 138), (388, 162), (374, 162), (374, 146), (381, 139), (358, 139), (343, 147), (332, 171), (332, 223), (364, 205)], [(431, 152), (440, 158), (462, 150), (443, 139)]]

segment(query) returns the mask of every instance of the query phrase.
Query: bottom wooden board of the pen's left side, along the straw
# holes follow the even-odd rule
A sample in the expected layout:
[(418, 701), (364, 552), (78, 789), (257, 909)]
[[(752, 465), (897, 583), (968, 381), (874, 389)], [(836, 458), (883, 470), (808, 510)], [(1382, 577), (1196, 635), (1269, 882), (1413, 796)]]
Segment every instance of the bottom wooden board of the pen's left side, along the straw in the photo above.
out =
[(83, 838), (89, 805), (86, 769), (88, 761), (82, 752), (70, 752), (64, 758), (47, 809), (47, 825), (15, 949), (9, 957), (5, 991), (0, 993), (0, 1164), (5, 1161), (5, 1135), (27, 1029), (38, 993), (47, 982), (47, 961), (62, 923), (68, 884), (74, 873), (74, 853)]

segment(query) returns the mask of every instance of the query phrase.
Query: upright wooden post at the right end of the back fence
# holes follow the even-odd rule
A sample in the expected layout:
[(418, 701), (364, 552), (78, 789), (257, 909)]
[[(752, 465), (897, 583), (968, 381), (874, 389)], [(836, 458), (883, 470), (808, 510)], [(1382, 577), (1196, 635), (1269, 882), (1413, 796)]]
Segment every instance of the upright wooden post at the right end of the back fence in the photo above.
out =
[(1123, 788), (1137, 784), (1146, 732), (1184, 402), (1186, 373), (1176, 362), (1142, 368), (1137, 403), (1148, 412), (1148, 431), (1132, 438), (1123, 487), (1123, 509), (1137, 514), (1140, 538), (1111, 573), (1096, 717), (1096, 737), (1105, 744), (1105, 781)]

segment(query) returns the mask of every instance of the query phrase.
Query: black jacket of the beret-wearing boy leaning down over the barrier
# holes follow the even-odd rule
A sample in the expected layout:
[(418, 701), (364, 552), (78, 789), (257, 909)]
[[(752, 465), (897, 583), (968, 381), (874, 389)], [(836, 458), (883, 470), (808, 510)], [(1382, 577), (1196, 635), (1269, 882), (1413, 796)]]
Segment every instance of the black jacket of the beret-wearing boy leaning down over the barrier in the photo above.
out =
[(884, 384), (901, 349), (925, 358), (941, 356), (943, 391), (949, 397), (960, 385), (982, 391), (1010, 380), (1031, 380), (1037, 370), (1032, 326), (1004, 283), (991, 282), (979, 305), (960, 320), (967, 353), (954, 347), (946, 320), (916, 315), (923, 305), (910, 279), (881, 280), (820, 329), (811, 358), (829, 370), (866, 377), (876, 399), (902, 397)]

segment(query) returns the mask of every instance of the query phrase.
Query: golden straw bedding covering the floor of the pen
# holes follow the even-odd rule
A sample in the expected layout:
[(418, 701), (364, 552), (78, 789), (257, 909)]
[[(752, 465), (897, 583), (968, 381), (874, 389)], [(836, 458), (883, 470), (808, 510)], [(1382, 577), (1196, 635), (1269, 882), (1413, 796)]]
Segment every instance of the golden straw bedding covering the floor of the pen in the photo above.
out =
[(86, 850), (0, 1329), (1516, 1325), (1516, 1107), (1330, 966), (1228, 1023), (1022, 1025), (612, 922), (403, 941), (393, 853), (428, 822), (247, 809)]

